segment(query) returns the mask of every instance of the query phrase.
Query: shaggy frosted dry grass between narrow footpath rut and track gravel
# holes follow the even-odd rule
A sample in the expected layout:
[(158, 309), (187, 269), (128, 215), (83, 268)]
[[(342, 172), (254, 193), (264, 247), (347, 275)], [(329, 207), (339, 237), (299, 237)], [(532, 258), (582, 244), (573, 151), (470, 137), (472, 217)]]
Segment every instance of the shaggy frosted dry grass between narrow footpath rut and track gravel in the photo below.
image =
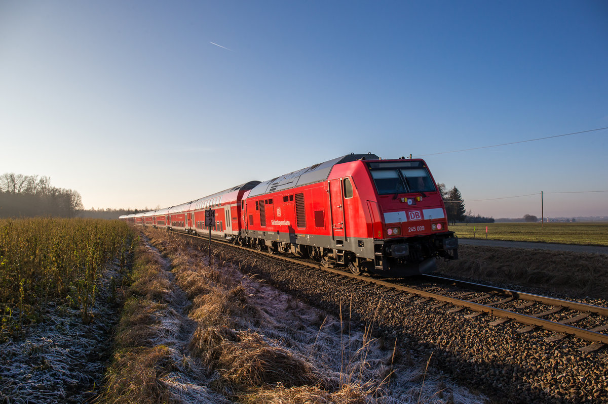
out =
[(224, 397), (285, 404), (480, 402), (427, 374), (396, 341), (384, 346), (370, 325), (351, 330), (350, 318), (328, 316), (243, 275), (255, 262), (238, 263), (237, 271), (220, 252), (209, 265), (197, 244), (152, 234), (192, 299), (188, 315), (196, 328), (188, 353), (207, 367), (210, 388)]

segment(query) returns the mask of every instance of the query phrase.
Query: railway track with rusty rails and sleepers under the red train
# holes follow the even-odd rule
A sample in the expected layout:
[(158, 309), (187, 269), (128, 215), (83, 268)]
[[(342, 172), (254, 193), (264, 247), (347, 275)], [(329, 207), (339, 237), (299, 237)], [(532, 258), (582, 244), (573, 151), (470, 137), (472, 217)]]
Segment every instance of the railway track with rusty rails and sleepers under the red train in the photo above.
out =
[[(179, 233), (199, 240), (207, 240)], [(471, 310), (465, 317), (472, 318), (482, 314), (497, 317), (490, 325), (500, 325), (513, 321), (523, 325), (518, 332), (530, 332), (541, 328), (554, 332), (546, 337), (547, 342), (556, 342), (571, 335), (592, 342), (588, 346), (579, 348), (583, 352), (595, 351), (608, 344), (608, 308), (587, 305), (576, 301), (562, 300), (511, 289), (498, 288), (485, 284), (442, 278), (433, 275), (423, 275), (423, 283), (418, 286), (404, 284), (407, 279), (380, 279), (378, 277), (353, 275), (350, 272), (335, 268), (323, 268), (312, 260), (295, 259), (285, 255), (271, 254), (249, 247), (235, 246), (221, 240), (212, 240), (215, 243), (227, 244), (234, 248), (266, 255), (277, 260), (297, 263), (316, 271), (329, 272), (339, 275), (340, 278), (350, 278), (361, 286), (369, 284), (375, 288), (384, 288), (389, 294), (406, 294), (406, 297), (421, 297), (418, 302), (431, 301), (433, 308), (451, 305), (447, 313), (455, 313), (463, 309)], [(449, 306), (448, 306), (449, 307)], [(579, 325), (579, 326), (577, 326)]]

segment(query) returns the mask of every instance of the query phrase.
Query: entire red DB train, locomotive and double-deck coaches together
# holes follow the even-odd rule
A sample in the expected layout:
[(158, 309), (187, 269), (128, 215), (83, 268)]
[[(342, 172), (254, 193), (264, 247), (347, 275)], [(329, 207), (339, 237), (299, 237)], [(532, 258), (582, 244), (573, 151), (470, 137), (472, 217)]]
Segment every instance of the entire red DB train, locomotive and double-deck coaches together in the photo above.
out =
[(268, 252), (314, 257), (354, 274), (432, 272), (435, 259), (458, 257), (458, 239), (435, 180), (420, 159), (350, 154), (260, 183), (178, 206), (120, 218)]

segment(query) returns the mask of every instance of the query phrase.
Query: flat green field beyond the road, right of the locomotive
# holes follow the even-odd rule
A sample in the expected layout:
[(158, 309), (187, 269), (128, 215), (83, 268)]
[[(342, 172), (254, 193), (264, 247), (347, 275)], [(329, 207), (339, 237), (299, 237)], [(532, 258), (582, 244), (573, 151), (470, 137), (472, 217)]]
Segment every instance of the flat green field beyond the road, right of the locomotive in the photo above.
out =
[(475, 223), (449, 226), (458, 237), (608, 246), (608, 223)]

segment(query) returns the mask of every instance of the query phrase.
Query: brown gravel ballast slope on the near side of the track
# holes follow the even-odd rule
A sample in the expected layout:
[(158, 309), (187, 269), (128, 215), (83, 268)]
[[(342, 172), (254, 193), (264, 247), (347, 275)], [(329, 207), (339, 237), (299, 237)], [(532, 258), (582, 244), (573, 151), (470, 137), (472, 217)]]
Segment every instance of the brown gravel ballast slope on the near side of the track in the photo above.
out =
[[(249, 252), (217, 246), (238, 261)], [(521, 325), (489, 325), (496, 318), (467, 318), (464, 309), (447, 314), (452, 306), (433, 308), (434, 300), (387, 293), (382, 288), (354, 285), (302, 268), (297, 264), (259, 258), (253, 268), (275, 286), (304, 298), (318, 308), (351, 313), (354, 326), (375, 323), (392, 345), (397, 338), (414, 360), (428, 360), (469, 388), (484, 392), (496, 402), (564, 403), (608, 402), (608, 350), (583, 353), (589, 343), (567, 337), (547, 343), (548, 331), (520, 334)], [(604, 302), (608, 305), (608, 302)]]

